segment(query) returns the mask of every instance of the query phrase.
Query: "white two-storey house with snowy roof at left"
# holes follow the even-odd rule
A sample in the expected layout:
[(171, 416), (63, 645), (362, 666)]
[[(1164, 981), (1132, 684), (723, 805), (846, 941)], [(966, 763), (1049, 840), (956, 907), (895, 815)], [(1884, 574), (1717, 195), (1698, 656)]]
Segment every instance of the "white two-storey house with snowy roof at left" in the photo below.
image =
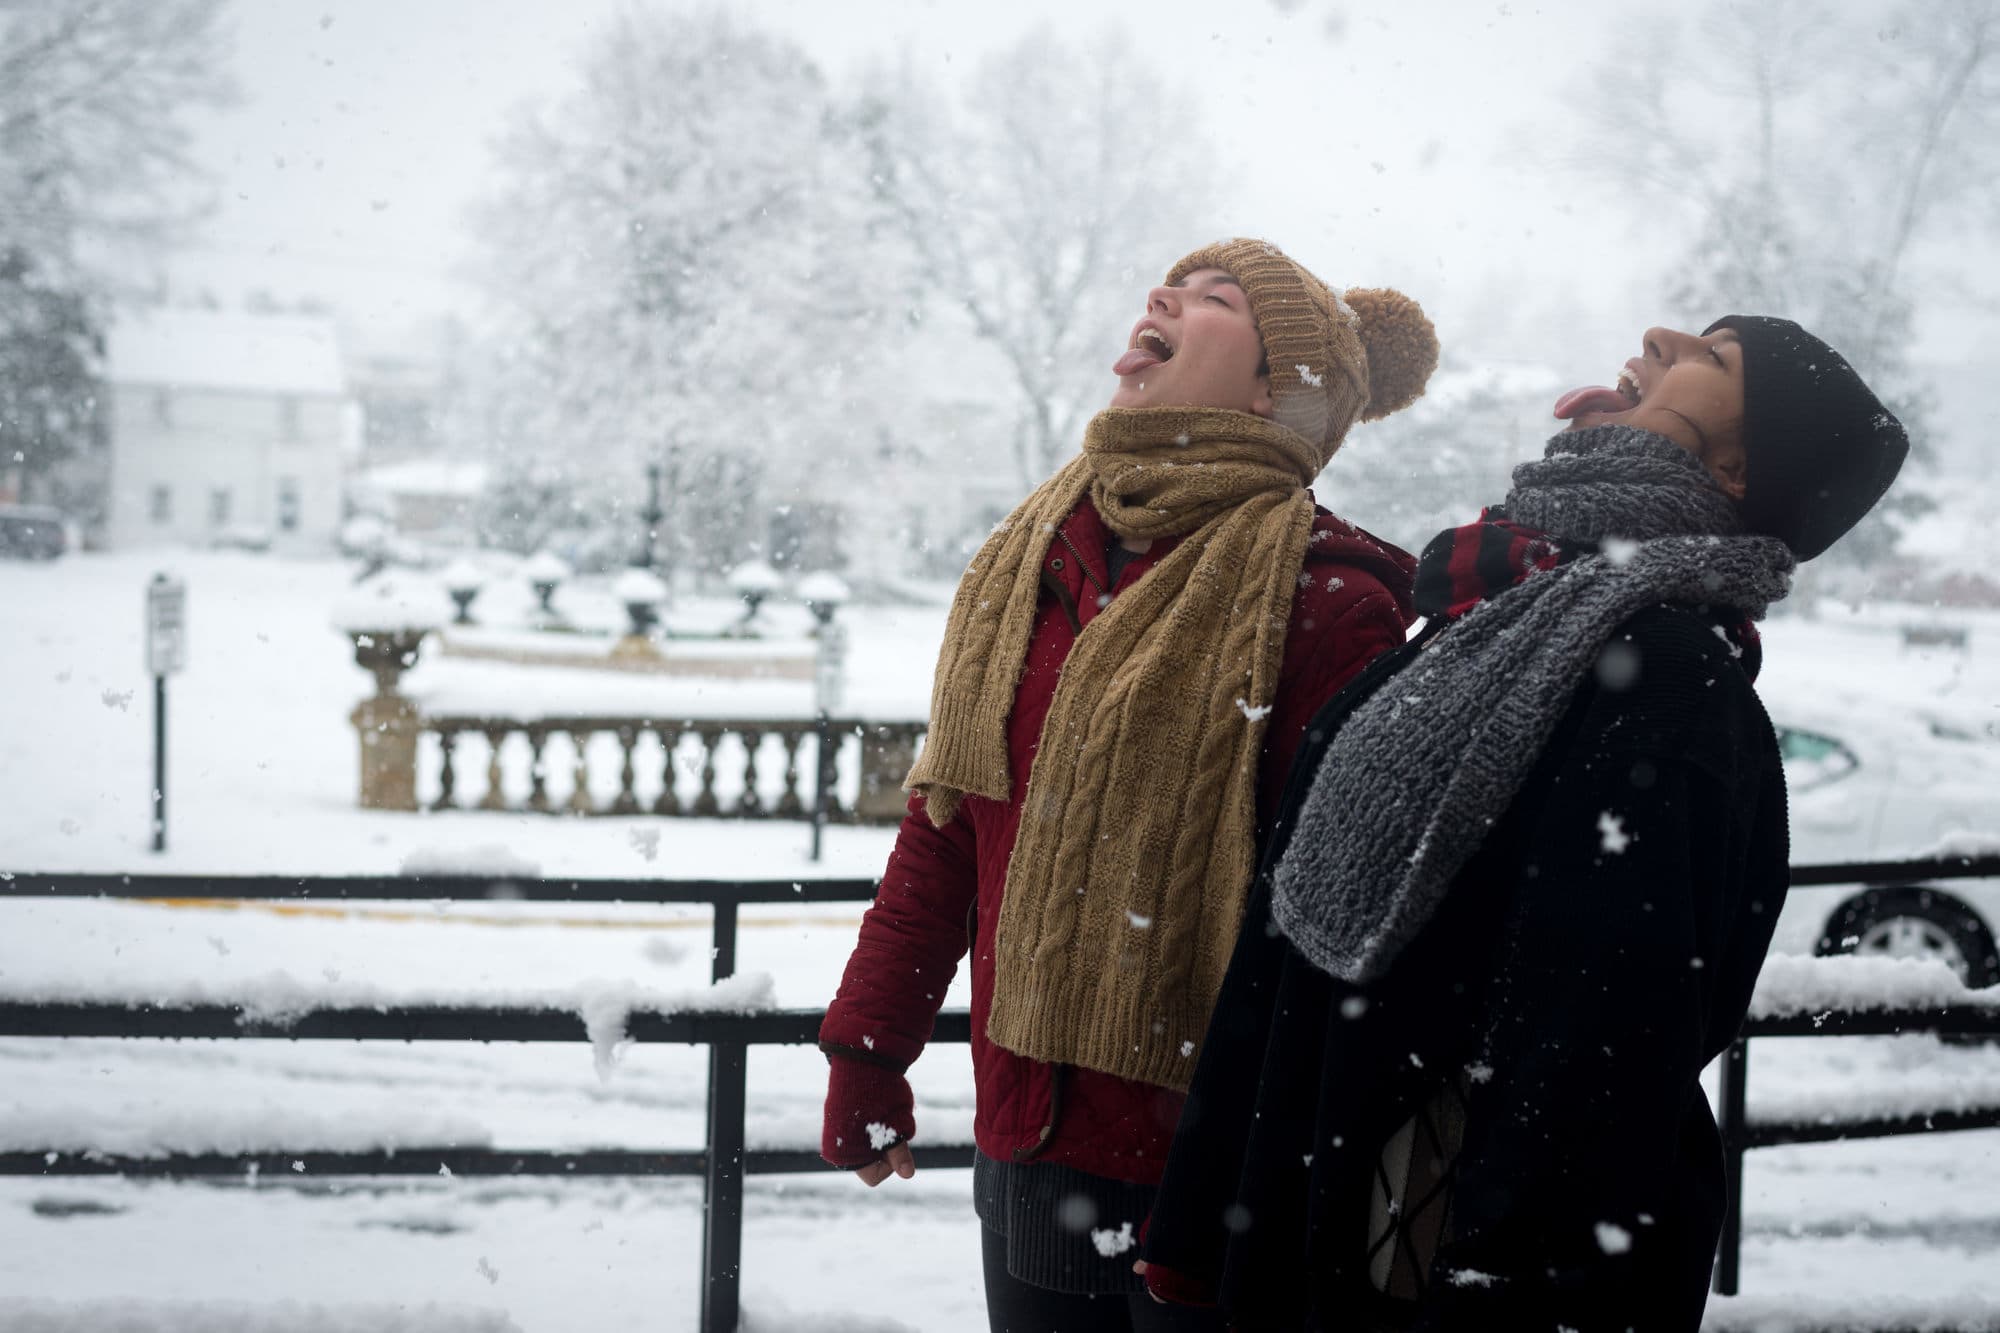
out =
[(360, 408), (330, 320), (128, 310), (104, 382), (106, 544), (332, 544)]

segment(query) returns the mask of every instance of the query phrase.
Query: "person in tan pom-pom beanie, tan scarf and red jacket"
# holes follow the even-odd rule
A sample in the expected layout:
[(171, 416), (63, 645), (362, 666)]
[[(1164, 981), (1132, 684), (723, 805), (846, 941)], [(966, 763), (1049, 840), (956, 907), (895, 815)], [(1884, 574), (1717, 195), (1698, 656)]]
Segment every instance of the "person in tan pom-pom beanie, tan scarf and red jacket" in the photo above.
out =
[(1314, 504), (1412, 402), (1416, 302), (1278, 248), (1182, 258), (1118, 388), (960, 580), (910, 813), (820, 1029), (822, 1155), (914, 1171), (904, 1071), (972, 951), (994, 1329), (1208, 1329), (1132, 1273), (1306, 721), (1412, 620), (1412, 560)]

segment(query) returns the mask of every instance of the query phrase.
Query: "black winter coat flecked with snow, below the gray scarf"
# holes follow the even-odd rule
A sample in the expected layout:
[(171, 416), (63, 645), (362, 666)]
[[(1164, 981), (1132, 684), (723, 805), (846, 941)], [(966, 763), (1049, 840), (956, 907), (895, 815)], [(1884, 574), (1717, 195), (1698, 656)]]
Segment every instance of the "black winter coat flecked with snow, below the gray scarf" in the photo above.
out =
[[(1270, 869), (1334, 729), (1422, 642), (1314, 719), (1146, 1259), (1246, 1331), (1700, 1325), (1724, 1183), (1698, 1075), (1742, 1025), (1788, 879), (1756, 646), (1724, 624), (1658, 606), (1620, 628), (1638, 679), (1586, 677), (1438, 917), (1370, 987), (1276, 935)], [(1368, 1271), (1382, 1145), (1446, 1083), (1464, 1117), (1448, 1221), (1420, 1293), (1386, 1297)]]

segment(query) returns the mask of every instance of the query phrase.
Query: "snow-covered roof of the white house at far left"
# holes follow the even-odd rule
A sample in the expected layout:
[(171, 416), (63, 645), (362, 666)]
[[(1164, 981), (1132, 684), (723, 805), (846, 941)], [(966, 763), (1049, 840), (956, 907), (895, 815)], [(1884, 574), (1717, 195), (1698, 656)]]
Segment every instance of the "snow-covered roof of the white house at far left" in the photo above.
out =
[(112, 384), (346, 396), (334, 324), (308, 314), (130, 308), (104, 346)]

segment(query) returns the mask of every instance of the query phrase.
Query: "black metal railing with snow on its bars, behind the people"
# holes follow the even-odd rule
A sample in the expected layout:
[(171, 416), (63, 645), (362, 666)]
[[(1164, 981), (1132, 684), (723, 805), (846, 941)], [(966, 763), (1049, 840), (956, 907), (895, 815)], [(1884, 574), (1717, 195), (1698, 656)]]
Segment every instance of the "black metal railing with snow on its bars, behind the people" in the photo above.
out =
[[(1898, 861), (1844, 867), (1794, 867), (1792, 883), (1914, 885), (1936, 879), (2000, 877), (2000, 857)], [(846, 881), (646, 881), (646, 879), (512, 879), (496, 875), (424, 877), (170, 877), (170, 875), (0, 875), (0, 897), (16, 899), (218, 899), (218, 901), (540, 901), (708, 905), (712, 919), (712, 979), (736, 973), (740, 909), (758, 903), (866, 903), (874, 883)], [(632, 1041), (706, 1045), (706, 1141), (698, 1149), (510, 1151), (472, 1147), (402, 1147), (346, 1153), (206, 1153), (122, 1157), (106, 1153), (0, 1153), (0, 1175), (154, 1175), (202, 1177), (290, 1175), (700, 1175), (702, 1177), (702, 1311), (704, 1333), (730, 1333), (740, 1319), (742, 1197), (746, 1175), (826, 1171), (812, 1149), (748, 1149), (744, 1141), (748, 1053), (756, 1045), (812, 1045), (822, 1011), (634, 1011)], [(1910, 1009), (1826, 1011), (1752, 1019), (1722, 1063), (1722, 1127), (1728, 1169), (1728, 1213), (1716, 1259), (1716, 1291), (1734, 1295), (1740, 1277), (1742, 1159), (1758, 1147), (1824, 1143), (1950, 1129), (2000, 1127), (2000, 1105), (1960, 1107), (1910, 1117), (1816, 1119), (1810, 1123), (1752, 1121), (1744, 1107), (1750, 1041), (1758, 1037), (1836, 1037), (1884, 1033), (2000, 1035), (2000, 1007), (1944, 1005)], [(934, 1041), (970, 1041), (970, 1015), (938, 1015)], [(284, 1039), (284, 1041), (588, 1041), (584, 1019), (566, 1009), (506, 1007), (348, 1007), (314, 1009), (290, 1021), (260, 1019), (232, 1005), (162, 1007), (128, 1001), (0, 1001), (0, 1037), (126, 1037), (126, 1039)], [(920, 1167), (968, 1167), (968, 1143), (914, 1143)]]

